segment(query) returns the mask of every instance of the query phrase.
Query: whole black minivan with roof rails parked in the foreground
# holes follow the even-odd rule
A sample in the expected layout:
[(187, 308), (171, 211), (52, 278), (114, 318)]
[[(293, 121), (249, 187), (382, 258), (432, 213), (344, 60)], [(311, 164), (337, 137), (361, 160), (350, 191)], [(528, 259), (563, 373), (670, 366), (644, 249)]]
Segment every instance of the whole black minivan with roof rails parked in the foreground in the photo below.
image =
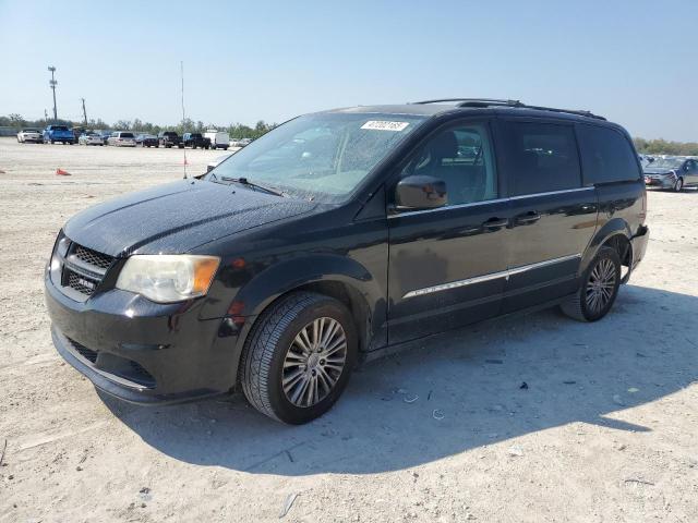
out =
[(242, 389), (300, 424), (420, 337), (552, 305), (602, 318), (645, 254), (646, 198), (627, 132), (587, 111), (308, 114), (71, 218), (46, 269), (53, 342), (127, 401)]

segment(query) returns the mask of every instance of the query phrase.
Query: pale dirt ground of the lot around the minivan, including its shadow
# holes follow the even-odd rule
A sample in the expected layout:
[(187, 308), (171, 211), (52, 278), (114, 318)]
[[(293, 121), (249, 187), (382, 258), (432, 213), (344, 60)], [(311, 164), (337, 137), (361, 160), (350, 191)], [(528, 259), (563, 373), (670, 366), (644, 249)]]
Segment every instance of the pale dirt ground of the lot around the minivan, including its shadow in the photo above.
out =
[(0, 138), (0, 522), (698, 521), (698, 191), (649, 195), (647, 257), (602, 321), (431, 339), (289, 427), (241, 397), (101, 398), (51, 344), (61, 224), (180, 178), (181, 150)]

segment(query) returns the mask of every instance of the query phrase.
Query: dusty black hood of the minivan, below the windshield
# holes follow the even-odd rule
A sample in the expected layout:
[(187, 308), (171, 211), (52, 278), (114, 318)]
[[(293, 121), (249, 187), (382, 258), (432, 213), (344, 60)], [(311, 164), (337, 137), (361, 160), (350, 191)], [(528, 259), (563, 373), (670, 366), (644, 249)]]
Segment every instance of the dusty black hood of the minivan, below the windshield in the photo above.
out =
[(182, 180), (91, 207), (71, 218), (63, 232), (111, 256), (177, 254), (316, 205), (238, 184)]

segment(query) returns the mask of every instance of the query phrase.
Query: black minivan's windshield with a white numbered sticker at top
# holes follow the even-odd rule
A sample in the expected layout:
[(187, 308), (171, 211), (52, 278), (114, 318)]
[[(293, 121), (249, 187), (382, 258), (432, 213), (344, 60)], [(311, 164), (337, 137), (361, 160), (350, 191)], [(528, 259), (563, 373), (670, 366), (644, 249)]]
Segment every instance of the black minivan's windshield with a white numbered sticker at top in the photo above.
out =
[(206, 180), (245, 178), (298, 197), (341, 200), (423, 120), (411, 114), (308, 114), (255, 139)]

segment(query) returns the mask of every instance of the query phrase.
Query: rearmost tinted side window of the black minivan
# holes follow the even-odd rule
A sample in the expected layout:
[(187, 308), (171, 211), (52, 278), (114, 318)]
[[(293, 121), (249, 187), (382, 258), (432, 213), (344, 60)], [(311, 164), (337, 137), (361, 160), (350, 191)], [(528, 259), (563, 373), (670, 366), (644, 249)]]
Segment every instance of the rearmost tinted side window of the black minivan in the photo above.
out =
[(628, 139), (619, 132), (595, 125), (579, 125), (577, 135), (585, 184), (622, 182), (640, 178), (635, 153)]

